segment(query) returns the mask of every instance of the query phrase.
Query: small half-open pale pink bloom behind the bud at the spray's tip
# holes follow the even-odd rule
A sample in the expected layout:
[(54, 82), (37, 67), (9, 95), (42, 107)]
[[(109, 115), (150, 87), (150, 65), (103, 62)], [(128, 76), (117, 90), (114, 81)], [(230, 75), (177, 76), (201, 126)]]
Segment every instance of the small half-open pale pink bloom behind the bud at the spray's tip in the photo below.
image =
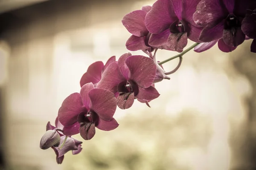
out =
[[(60, 131), (56, 131), (55, 129), (62, 130), (63, 127), (64, 126), (61, 125), (61, 123), (58, 121), (58, 118), (56, 118), (55, 127), (52, 126), (50, 124), (50, 122), (48, 122), (47, 125), (46, 125), (46, 130), (47, 131), (52, 130), (52, 131), (55, 131), (56, 133), (59, 133), (59, 136), (61, 136), (60, 137), (60, 144), (62, 144), (64, 142), (64, 139), (65, 139), (66, 136), (64, 136), (63, 133), (61, 133)], [(83, 142), (78, 141), (78, 140), (68, 136), (64, 145), (63, 145), (63, 147), (61, 149), (59, 149), (59, 146), (57, 146), (57, 147), (52, 146), (52, 149), (54, 150), (54, 152), (56, 154), (57, 163), (61, 164), (63, 159), (64, 159), (64, 154), (67, 153), (70, 150), (72, 150), (73, 155), (76, 155), (76, 154), (80, 153), (81, 150), (82, 150), (82, 148), (81, 148), (82, 143)]]

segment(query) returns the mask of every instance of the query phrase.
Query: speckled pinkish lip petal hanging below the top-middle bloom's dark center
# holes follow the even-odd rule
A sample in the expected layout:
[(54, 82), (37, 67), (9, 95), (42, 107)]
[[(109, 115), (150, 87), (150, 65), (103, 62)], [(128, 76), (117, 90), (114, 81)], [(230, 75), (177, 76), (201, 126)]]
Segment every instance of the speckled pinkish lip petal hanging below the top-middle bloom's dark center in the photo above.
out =
[(170, 34), (167, 46), (172, 51), (182, 52), (188, 43), (187, 33)]

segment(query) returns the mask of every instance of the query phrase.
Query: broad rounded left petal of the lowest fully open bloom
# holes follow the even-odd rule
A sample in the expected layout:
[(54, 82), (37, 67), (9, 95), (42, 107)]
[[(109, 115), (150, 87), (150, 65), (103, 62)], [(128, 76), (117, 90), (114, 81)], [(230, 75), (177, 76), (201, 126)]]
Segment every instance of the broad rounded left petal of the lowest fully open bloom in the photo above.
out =
[(81, 95), (73, 93), (62, 102), (58, 110), (58, 119), (64, 126), (73, 125), (77, 121), (79, 113), (84, 111)]

